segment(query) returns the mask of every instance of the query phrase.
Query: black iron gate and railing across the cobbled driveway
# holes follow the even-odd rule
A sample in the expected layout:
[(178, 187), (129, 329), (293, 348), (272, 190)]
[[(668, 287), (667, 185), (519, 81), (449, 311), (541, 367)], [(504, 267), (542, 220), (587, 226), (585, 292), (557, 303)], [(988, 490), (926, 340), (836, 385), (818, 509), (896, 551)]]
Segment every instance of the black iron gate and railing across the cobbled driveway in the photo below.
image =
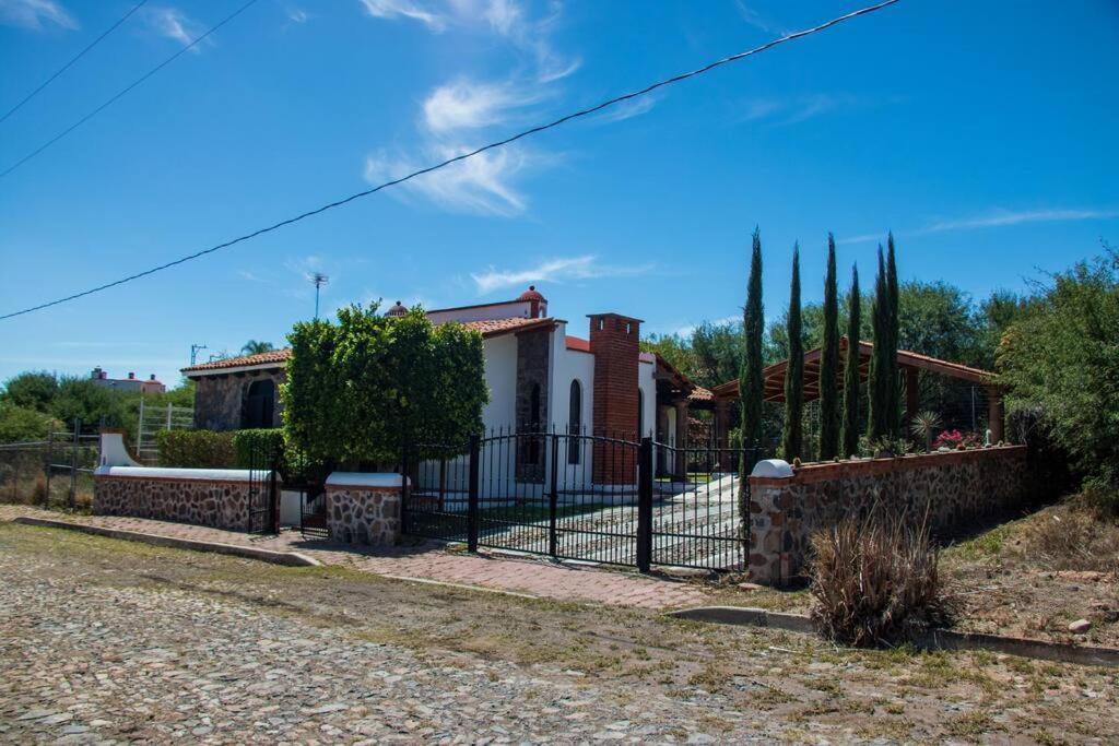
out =
[[(563, 432), (495, 431), (405, 450), (404, 530), (562, 559), (741, 569), (739, 472), (756, 452)], [(666, 464), (671, 465), (667, 468)]]

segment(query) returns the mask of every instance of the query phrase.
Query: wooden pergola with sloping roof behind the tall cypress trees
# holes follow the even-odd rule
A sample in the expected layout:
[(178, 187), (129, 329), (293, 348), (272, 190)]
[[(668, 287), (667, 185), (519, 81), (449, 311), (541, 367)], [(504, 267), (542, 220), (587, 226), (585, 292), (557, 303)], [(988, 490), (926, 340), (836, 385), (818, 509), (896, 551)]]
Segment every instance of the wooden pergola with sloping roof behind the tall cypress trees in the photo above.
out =
[[(834, 386), (843, 390), (844, 369), (847, 365), (847, 349), (849, 344), (847, 338), (839, 340), (839, 366), (836, 370)], [(858, 342), (858, 377), (859, 383), (865, 383), (869, 377), (871, 356), (874, 352), (874, 343), (859, 340)], [(820, 396), (820, 355), (821, 348), (809, 350), (805, 353), (805, 402), (818, 399)], [(774, 362), (762, 371), (764, 380), (764, 399), (767, 402), (784, 402), (784, 375), (789, 367), (788, 360)], [(918, 378), (921, 371), (968, 381), (972, 385), (982, 386), (988, 394), (988, 421), (993, 441), (1003, 440), (1003, 387), (997, 381), (997, 376), (989, 370), (980, 370), (970, 366), (950, 362), (938, 358), (910, 352), (909, 350), (897, 350), (897, 367), (905, 376), (905, 410), (916, 412), (920, 406), (918, 399)], [(724, 410), (739, 398), (739, 381), (731, 380), (721, 384), (712, 389), (715, 395), (716, 412)], [(722, 405), (722, 406), (720, 406)], [(722, 423), (720, 422), (722, 419)], [(724, 432), (727, 427), (726, 417), (716, 417), (716, 428)]]

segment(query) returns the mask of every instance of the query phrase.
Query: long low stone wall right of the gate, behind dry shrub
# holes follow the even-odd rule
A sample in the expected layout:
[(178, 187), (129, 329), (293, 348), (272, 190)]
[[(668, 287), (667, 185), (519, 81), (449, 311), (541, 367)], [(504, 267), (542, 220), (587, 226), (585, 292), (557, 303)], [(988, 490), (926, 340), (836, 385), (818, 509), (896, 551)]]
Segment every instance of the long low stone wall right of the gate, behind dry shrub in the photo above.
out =
[(1025, 446), (805, 464), (791, 476), (750, 476), (750, 573), (786, 584), (805, 567), (812, 532), (872, 509), (928, 514), (958, 529), (1032, 497)]

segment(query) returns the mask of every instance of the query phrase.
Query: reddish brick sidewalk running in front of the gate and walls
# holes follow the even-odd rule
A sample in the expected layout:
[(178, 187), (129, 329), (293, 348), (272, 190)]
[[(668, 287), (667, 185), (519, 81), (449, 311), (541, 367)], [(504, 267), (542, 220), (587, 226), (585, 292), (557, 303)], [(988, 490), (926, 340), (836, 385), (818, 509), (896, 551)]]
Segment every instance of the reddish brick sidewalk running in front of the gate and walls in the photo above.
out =
[(147, 518), (66, 516), (26, 506), (0, 506), (0, 521), (10, 521), (19, 516), (68, 520), (75, 523), (196, 541), (299, 551), (314, 557), (325, 565), (341, 565), (376, 575), (482, 586), (558, 601), (653, 610), (700, 605), (706, 601), (703, 588), (685, 583), (646, 577), (636, 573), (556, 564), (545, 559), (455, 554), (433, 542), (370, 550), (330, 541), (304, 540), (299, 531), (285, 531), (279, 537), (258, 537), (239, 531), (222, 531)]

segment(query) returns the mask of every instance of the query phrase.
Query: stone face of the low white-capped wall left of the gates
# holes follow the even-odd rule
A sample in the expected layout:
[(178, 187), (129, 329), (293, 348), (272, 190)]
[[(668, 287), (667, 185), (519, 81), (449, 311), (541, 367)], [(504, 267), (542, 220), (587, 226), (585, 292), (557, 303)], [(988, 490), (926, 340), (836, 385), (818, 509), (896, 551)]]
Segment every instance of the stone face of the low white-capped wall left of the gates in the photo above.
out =
[(93, 512), (244, 531), (248, 482), (95, 476)]

